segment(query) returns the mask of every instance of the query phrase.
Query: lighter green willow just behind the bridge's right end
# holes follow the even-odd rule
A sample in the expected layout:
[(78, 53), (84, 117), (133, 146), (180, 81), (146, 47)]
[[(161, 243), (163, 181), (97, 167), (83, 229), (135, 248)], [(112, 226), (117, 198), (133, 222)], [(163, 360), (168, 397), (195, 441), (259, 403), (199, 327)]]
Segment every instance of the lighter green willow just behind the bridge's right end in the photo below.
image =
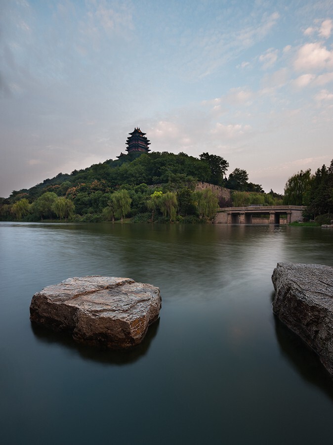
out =
[(301, 206), (305, 204), (306, 194), (311, 187), (311, 170), (301, 170), (296, 175), (291, 176), (285, 185), (284, 204)]

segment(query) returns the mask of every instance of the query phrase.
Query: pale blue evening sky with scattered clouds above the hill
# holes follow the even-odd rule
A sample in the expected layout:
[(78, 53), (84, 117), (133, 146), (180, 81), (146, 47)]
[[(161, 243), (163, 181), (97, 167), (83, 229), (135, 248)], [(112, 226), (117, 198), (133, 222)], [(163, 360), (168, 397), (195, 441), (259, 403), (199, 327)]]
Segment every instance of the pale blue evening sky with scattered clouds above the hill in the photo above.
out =
[(333, 158), (333, 0), (0, 0), (0, 196), (152, 151), (282, 193)]

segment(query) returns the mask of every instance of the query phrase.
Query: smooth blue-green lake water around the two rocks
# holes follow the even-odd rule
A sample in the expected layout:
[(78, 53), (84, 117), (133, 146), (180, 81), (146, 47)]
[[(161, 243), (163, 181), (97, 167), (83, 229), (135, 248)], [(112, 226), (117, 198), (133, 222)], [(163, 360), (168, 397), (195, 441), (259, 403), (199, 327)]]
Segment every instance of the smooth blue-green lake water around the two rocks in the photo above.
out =
[[(278, 261), (333, 266), (333, 231), (0, 223), (2, 444), (329, 444), (333, 380), (272, 314)], [(113, 275), (161, 289), (130, 352), (32, 326), (43, 287)]]

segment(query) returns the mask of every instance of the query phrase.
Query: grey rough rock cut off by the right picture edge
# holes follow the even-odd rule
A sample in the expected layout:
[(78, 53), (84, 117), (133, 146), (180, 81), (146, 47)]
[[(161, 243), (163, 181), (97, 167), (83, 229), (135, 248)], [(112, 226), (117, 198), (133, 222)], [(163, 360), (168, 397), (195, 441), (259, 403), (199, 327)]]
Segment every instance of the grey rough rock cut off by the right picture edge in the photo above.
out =
[(333, 267), (278, 263), (272, 281), (273, 312), (333, 374)]

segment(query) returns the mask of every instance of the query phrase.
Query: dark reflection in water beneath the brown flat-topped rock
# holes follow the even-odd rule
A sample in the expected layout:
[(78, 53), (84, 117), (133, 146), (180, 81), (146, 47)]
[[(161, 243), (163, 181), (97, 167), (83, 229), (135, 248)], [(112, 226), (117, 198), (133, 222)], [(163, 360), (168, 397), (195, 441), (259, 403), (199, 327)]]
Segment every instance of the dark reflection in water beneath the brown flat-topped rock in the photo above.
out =
[(81, 345), (80, 343), (76, 343), (69, 334), (51, 331), (33, 322), (31, 323), (31, 329), (36, 339), (42, 343), (61, 345), (70, 351), (71, 354), (78, 354), (87, 360), (97, 361), (105, 365), (122, 366), (134, 363), (147, 354), (153, 339), (157, 335), (159, 324), (160, 318), (149, 326), (145, 338), (139, 345), (122, 351), (98, 349)]

